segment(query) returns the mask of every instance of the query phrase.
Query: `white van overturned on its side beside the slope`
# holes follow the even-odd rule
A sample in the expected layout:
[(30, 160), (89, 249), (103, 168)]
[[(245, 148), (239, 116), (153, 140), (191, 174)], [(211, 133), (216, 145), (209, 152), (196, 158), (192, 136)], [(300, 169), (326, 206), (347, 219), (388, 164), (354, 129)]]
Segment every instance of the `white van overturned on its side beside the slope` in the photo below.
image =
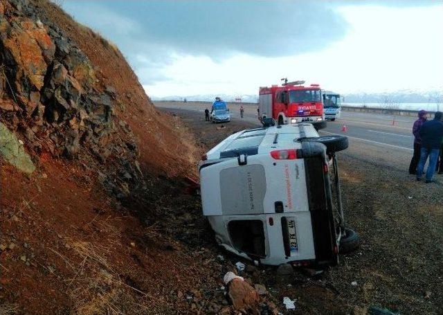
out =
[(358, 246), (341, 207), (335, 152), (346, 147), (311, 123), (247, 129), (215, 146), (199, 172), (218, 244), (261, 264), (336, 264)]

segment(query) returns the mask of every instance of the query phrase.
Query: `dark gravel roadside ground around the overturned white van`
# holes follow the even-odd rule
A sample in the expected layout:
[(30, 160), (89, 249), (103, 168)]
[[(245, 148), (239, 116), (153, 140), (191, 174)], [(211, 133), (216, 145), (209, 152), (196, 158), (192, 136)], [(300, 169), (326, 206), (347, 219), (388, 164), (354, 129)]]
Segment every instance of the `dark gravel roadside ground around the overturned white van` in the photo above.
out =
[[(239, 129), (252, 127), (233, 120), (220, 128), (195, 111), (170, 112), (183, 118), (206, 149)], [(401, 314), (442, 314), (442, 186), (417, 183), (406, 170), (371, 161), (358, 152), (341, 153), (339, 163), (346, 219), (361, 235), (361, 249), (342, 255), (338, 267), (318, 279), (298, 271), (282, 283), (274, 270), (266, 269), (251, 280), (266, 285), (269, 300), (279, 309), (283, 296), (296, 299), (296, 314), (365, 314), (372, 305)], [(208, 231), (204, 219), (194, 215), (196, 228)], [(208, 238), (188, 242), (227, 255)], [(228, 264), (238, 260), (228, 257)]]

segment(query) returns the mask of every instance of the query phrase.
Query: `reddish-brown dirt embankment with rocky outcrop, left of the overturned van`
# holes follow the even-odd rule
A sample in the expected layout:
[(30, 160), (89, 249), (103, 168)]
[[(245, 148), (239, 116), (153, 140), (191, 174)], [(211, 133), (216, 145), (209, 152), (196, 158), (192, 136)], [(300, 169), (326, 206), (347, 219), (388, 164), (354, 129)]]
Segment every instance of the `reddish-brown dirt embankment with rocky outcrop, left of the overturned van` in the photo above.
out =
[(50, 1), (1, 0), (0, 132), (0, 313), (171, 309), (193, 254), (156, 222), (199, 149), (118, 48)]

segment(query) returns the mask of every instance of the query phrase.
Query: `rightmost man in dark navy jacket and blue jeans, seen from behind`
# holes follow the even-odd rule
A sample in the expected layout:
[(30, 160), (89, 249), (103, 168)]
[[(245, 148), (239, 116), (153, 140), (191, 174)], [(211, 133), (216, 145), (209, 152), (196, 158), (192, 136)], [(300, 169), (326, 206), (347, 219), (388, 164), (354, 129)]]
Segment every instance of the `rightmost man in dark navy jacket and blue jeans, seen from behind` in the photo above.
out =
[(426, 121), (420, 129), (419, 135), (422, 138), (420, 149), (420, 160), (417, 166), (417, 181), (422, 180), (424, 164), (429, 156), (428, 170), (426, 170), (426, 183), (432, 183), (432, 177), (437, 166), (438, 154), (443, 141), (442, 112), (437, 111), (433, 120)]

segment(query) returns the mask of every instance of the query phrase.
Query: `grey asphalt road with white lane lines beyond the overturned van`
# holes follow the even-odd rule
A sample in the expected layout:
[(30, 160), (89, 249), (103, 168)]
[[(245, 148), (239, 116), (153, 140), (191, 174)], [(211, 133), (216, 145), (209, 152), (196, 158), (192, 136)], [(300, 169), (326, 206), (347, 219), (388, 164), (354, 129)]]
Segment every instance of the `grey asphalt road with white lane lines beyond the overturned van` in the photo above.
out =
[[(161, 109), (201, 111), (202, 116), (205, 108), (210, 109), (209, 102), (154, 102), (154, 105)], [(239, 116), (238, 104), (229, 104), (228, 108), (233, 120), (243, 119), (259, 125), (255, 105), (244, 105), (244, 118)], [(320, 134), (347, 136), (350, 147), (346, 154), (356, 159), (407, 170), (413, 154), (414, 120), (414, 117), (342, 111), (341, 118), (329, 121)]]

